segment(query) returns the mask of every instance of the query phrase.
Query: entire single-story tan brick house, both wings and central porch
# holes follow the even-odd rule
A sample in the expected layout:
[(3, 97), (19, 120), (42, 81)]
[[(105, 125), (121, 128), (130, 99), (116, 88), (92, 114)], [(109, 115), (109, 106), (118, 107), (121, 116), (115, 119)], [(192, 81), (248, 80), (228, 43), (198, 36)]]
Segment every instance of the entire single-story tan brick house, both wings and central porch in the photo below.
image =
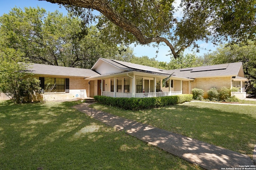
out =
[[(91, 69), (31, 64), (29, 70), (41, 81), (44, 100), (65, 100), (104, 95), (109, 97), (162, 97), (191, 94), (193, 88), (216, 87), (240, 90), (233, 95), (246, 98), (241, 62), (164, 70), (139, 64), (99, 58)], [(56, 85), (52, 91), (47, 87)], [(54, 93), (53, 93), (54, 91)]]

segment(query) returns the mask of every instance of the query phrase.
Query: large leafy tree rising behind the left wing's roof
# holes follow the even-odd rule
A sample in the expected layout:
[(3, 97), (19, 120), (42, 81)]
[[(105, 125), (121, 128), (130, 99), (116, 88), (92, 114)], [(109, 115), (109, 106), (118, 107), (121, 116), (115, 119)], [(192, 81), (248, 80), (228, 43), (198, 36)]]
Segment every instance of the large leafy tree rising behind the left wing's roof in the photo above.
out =
[(99, 57), (116, 55), (95, 26), (43, 8), (13, 8), (0, 17), (0, 45), (25, 53), (32, 63), (91, 68)]

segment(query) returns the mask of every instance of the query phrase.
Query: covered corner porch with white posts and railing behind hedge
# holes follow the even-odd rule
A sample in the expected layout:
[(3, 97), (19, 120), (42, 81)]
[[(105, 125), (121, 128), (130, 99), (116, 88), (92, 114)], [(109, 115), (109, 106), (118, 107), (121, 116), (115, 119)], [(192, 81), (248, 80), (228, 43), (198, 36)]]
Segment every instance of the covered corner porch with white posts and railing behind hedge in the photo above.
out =
[(88, 79), (94, 81), (94, 95), (107, 97), (145, 98), (190, 93), (193, 79), (169, 76), (132, 71)]

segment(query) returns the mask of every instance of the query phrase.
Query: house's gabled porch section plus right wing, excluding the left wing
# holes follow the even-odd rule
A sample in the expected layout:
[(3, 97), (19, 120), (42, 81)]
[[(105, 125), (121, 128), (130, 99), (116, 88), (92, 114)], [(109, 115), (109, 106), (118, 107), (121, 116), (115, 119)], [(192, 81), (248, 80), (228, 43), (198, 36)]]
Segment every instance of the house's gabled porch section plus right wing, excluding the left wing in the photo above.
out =
[(86, 78), (94, 82), (94, 95), (110, 97), (160, 97), (191, 94), (193, 88), (207, 91), (216, 87), (239, 87), (233, 93), (239, 99), (246, 98), (242, 62), (163, 70), (138, 64), (100, 58), (92, 67), (99, 73)]

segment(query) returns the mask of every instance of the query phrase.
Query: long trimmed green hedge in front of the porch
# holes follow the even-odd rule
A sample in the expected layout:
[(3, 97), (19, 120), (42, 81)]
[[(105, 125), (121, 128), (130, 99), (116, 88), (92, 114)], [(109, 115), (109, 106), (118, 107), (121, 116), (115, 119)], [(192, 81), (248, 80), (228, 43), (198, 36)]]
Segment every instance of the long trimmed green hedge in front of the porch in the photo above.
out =
[(168, 105), (175, 105), (192, 100), (192, 95), (175, 95), (150, 98), (115, 98), (106, 96), (94, 96), (99, 103), (120, 107), (125, 110), (140, 110)]

